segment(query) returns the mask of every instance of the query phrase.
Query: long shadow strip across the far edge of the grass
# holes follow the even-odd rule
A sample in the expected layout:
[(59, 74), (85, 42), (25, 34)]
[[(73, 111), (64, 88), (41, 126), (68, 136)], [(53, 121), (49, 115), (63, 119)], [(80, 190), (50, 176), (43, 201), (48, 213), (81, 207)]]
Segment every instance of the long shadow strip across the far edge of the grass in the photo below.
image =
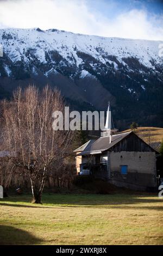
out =
[[(146, 197), (146, 198), (145, 198)], [(144, 197), (137, 194), (123, 194), (123, 195), (112, 195), (112, 194), (44, 194), (42, 198), (43, 205), (36, 204), (21, 204), (22, 202), (29, 202), (29, 197), (14, 197), (8, 198), (7, 202), (0, 202), (3, 206), (15, 206), (22, 208), (47, 208), (55, 209), (57, 208), (67, 208), (67, 207), (102, 207), (102, 208), (128, 208), (134, 207), (136, 209), (151, 209), (151, 210), (163, 210), (162, 200), (153, 198), (151, 196), (144, 195)], [(15, 202), (15, 203), (14, 203)], [(146, 205), (151, 203), (151, 205)], [(159, 203), (159, 205), (158, 205)], [(142, 204), (142, 205), (139, 205)], [(143, 205), (145, 204), (145, 205)], [(157, 205), (156, 205), (157, 204)]]

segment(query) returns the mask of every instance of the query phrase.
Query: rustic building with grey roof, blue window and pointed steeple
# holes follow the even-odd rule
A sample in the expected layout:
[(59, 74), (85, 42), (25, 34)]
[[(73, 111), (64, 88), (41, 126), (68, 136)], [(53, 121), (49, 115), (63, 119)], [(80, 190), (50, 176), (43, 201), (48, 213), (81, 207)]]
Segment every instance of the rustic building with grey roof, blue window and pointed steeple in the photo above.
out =
[(105, 130), (76, 153), (77, 175), (92, 175), (139, 191), (155, 190), (156, 152), (134, 132), (117, 133), (108, 107)]

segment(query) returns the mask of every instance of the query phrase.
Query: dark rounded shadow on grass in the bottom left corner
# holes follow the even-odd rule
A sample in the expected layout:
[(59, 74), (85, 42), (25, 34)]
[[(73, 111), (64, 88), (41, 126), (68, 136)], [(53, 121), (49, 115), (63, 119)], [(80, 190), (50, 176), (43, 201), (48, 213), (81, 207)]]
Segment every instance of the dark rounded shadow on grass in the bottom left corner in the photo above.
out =
[(42, 241), (22, 229), (0, 225), (0, 245), (39, 245)]

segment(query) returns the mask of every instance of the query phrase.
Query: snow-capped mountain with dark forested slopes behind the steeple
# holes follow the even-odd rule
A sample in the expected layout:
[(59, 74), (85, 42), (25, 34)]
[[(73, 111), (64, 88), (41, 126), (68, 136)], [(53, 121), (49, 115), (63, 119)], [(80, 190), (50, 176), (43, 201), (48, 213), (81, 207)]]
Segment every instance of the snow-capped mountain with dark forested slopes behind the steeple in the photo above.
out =
[(162, 43), (57, 29), (0, 29), (1, 97), (20, 84), (48, 83), (80, 109), (106, 109), (110, 100), (119, 126), (144, 124), (143, 117), (150, 125), (163, 125), (157, 121), (163, 109)]

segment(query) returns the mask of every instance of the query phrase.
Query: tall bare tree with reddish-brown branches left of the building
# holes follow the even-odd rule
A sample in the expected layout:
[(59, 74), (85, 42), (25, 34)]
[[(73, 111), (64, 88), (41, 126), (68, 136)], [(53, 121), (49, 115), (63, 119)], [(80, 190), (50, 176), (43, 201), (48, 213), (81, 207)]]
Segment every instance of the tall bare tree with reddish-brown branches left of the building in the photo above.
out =
[(64, 166), (70, 154), (71, 131), (54, 131), (54, 111), (64, 111), (64, 101), (57, 89), (46, 86), (42, 92), (34, 86), (18, 88), (12, 102), (3, 102), (3, 149), (9, 152), (10, 164), (5, 186), (27, 176), (33, 203), (41, 203), (48, 175), (55, 165)]

